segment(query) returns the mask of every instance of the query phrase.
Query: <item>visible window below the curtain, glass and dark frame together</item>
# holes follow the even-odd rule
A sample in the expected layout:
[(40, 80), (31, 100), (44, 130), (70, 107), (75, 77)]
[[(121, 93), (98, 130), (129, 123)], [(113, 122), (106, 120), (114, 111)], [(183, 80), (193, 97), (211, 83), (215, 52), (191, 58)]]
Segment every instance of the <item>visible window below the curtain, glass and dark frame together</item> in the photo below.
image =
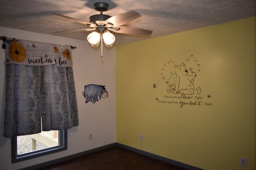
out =
[(12, 163), (67, 150), (67, 129), (12, 137)]

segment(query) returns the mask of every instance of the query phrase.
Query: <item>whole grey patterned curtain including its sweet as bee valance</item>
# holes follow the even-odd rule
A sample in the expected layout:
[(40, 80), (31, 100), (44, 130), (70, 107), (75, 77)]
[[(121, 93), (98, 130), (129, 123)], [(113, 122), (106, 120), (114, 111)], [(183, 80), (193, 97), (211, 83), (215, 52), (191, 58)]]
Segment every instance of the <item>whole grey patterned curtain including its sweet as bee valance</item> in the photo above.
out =
[(4, 137), (78, 125), (70, 47), (6, 38)]

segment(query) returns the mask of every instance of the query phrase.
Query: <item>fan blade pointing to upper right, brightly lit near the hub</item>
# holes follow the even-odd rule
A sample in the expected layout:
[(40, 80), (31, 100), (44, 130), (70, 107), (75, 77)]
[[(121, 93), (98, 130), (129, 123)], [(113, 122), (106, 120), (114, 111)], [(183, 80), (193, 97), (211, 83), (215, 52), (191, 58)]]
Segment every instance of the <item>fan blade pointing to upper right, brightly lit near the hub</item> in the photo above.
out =
[(138, 12), (130, 11), (117, 16), (112, 16), (105, 21), (106, 27), (118, 27), (136, 18), (142, 17)]

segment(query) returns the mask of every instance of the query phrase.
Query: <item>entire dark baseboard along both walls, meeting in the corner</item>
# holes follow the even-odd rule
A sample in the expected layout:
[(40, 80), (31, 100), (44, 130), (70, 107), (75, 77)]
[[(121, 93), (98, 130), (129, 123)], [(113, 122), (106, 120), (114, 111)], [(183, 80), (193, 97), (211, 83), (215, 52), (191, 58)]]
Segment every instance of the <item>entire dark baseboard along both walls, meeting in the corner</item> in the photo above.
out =
[(163, 156), (152, 154), (150, 152), (146, 152), (144, 150), (140, 150), (140, 149), (136, 149), (136, 148), (133, 148), (133, 147), (129, 147), (129, 146), (126, 146), (126, 145), (123, 145), (123, 144), (120, 144), (120, 143), (111, 143), (109, 145), (104, 145), (102, 147), (86, 150), (84, 152), (79, 152), (77, 154), (72, 154), (72, 155), (69, 155), (69, 156), (65, 156), (63, 158), (58, 158), (58, 159), (55, 159), (55, 160), (50, 160), (48, 162), (44, 162), (44, 163), (41, 163), (41, 164), (36, 164), (36, 165), (29, 166), (29, 167), (26, 167), (26, 168), (22, 168), (22, 169), (19, 169), (19, 170), (34, 170), (34, 169), (40, 169), (40, 168), (44, 168), (44, 167), (47, 168), (47, 167), (53, 166), (54, 164), (58, 164), (58, 163), (61, 163), (61, 162), (67, 161), (67, 160), (75, 159), (75, 158), (78, 158), (80, 156), (84, 156), (86, 154), (90, 154), (90, 153), (93, 153), (93, 152), (98, 152), (100, 150), (108, 149), (108, 148), (115, 147), (115, 146), (123, 148), (123, 149), (126, 149), (126, 150), (130, 150), (132, 152), (136, 152), (138, 154), (142, 154), (144, 156), (148, 156), (150, 158), (154, 158), (154, 159), (157, 159), (157, 160), (160, 160), (160, 161), (163, 161), (163, 162), (167, 162), (167, 163), (173, 164), (175, 166), (179, 166), (181, 168), (186, 168), (188, 170), (203, 170), (203, 169), (197, 168), (195, 166), (184, 164), (184, 163), (178, 162), (176, 160), (165, 158)]

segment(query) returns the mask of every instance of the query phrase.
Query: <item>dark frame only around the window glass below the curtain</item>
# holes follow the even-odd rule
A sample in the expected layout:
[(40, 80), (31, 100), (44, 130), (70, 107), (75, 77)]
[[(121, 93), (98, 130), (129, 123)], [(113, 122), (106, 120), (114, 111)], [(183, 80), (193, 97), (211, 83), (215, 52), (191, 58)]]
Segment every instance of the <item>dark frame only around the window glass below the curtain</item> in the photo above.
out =
[(23, 160), (28, 160), (32, 158), (36, 158), (39, 156), (47, 155), (47, 154), (52, 154), (55, 152), (60, 152), (62, 150), (67, 150), (68, 149), (68, 133), (67, 129), (64, 130), (59, 130), (59, 145), (53, 146), (53, 147), (48, 147), (45, 149), (40, 149), (40, 150), (34, 150), (31, 152), (27, 152), (24, 154), (18, 155), (17, 153), (17, 136), (12, 137), (11, 139), (11, 146), (12, 146), (12, 164), (16, 162), (20, 162)]

